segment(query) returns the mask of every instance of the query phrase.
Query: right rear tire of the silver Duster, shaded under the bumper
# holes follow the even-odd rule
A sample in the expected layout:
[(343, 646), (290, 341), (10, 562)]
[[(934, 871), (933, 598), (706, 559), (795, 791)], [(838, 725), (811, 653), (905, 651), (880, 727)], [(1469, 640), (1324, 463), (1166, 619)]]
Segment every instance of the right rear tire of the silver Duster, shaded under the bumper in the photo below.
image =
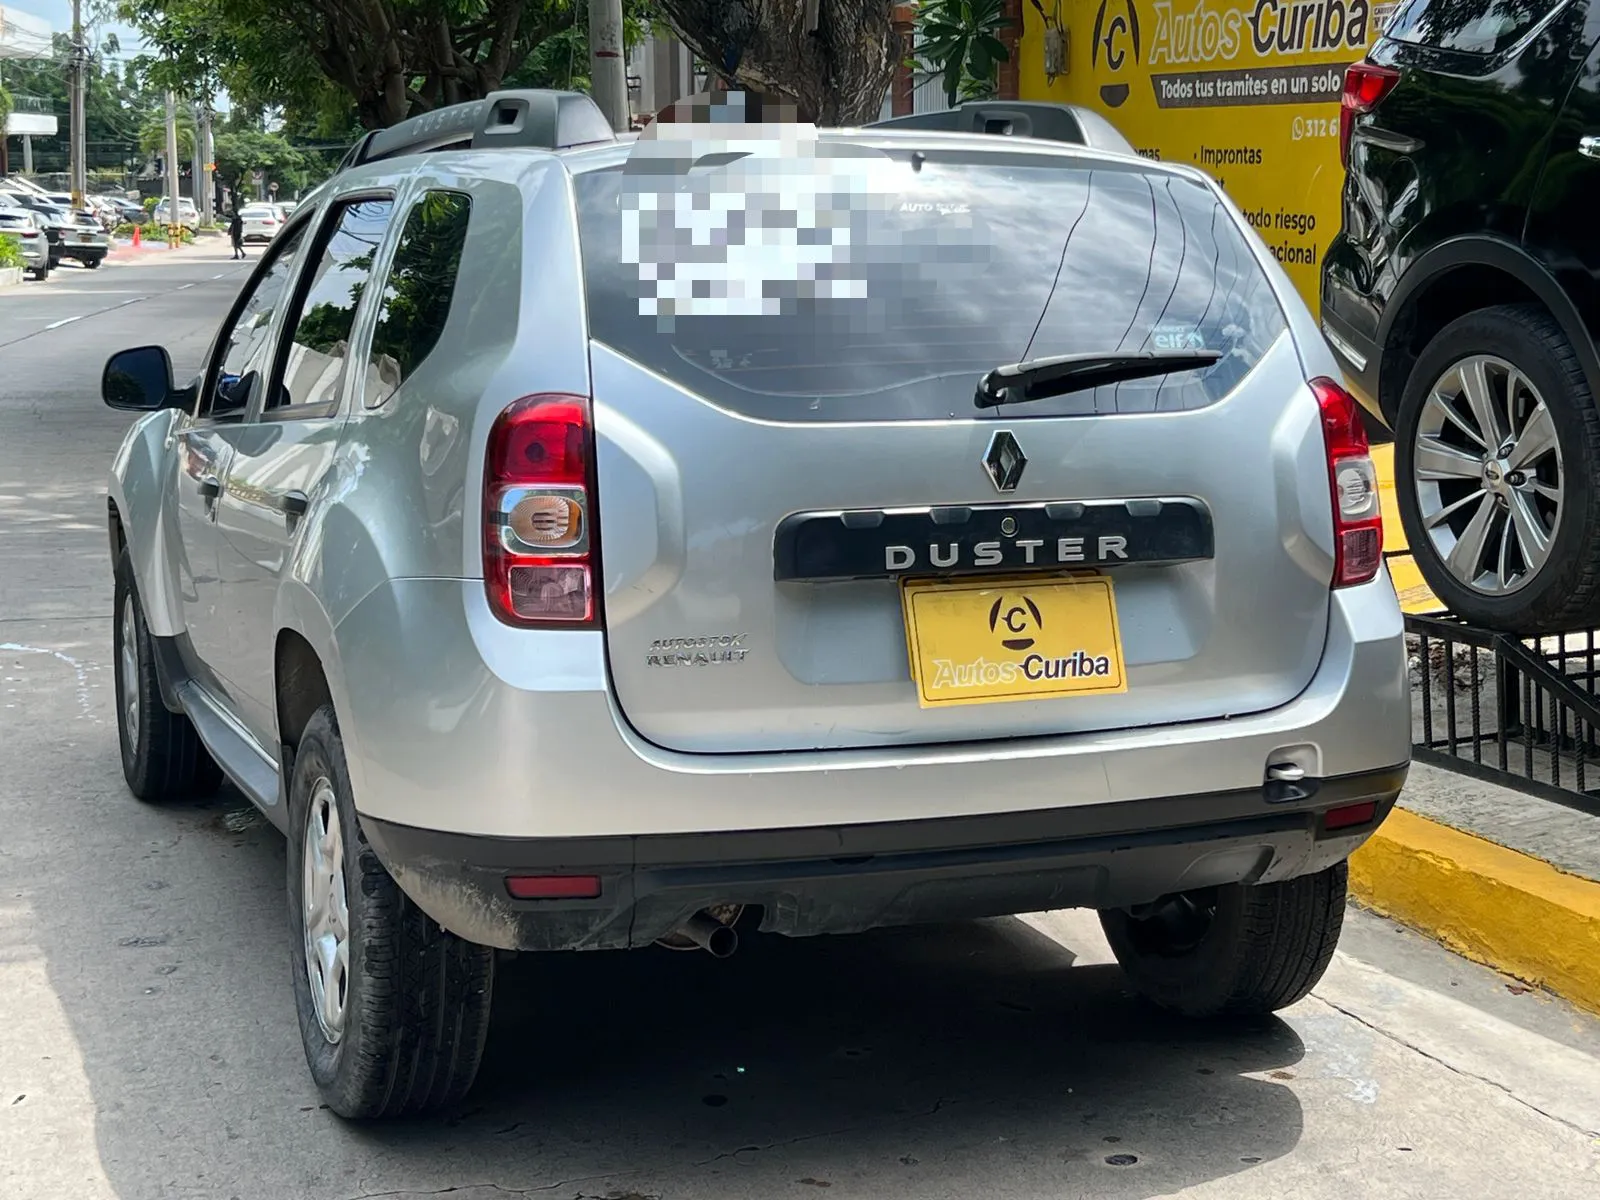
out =
[(1288, 1008), (1322, 979), (1339, 944), (1344, 862), (1280, 883), (1232, 883), (1107, 909), (1101, 926), (1133, 986), (1194, 1018)]

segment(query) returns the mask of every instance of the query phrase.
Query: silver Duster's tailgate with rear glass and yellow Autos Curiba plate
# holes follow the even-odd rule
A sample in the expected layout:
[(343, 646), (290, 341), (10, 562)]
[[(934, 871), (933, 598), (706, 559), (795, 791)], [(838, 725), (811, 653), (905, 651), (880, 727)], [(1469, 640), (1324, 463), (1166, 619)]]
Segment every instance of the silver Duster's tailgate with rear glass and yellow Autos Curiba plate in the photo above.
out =
[[(797, 750), (1293, 699), (1326, 632), (1326, 466), (1218, 197), (1133, 160), (832, 146), (576, 179), (627, 720)], [(1005, 363), (1189, 349), (1219, 358), (974, 405)]]

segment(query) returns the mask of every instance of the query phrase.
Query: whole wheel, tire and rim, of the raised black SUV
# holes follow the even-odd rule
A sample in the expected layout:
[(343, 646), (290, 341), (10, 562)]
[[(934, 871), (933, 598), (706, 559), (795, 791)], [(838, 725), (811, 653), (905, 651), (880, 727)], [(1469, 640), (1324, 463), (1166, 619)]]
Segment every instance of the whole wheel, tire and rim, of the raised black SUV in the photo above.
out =
[[(1510, 453), (1486, 453), (1485, 403), (1490, 450)], [(1395, 414), (1395, 493), (1422, 579), (1464, 621), (1600, 622), (1600, 413), (1544, 309), (1480, 309), (1427, 344)]]

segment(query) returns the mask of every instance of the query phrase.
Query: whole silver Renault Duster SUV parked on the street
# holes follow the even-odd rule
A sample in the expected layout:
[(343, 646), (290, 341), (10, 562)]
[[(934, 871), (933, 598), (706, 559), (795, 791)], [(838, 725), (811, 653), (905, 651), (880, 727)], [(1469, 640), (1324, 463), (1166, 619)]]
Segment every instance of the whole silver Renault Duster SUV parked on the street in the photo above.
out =
[(339, 1114), (462, 1096), (496, 950), (1078, 906), (1280, 1008), (1405, 779), (1362, 424), (1216, 184), (741, 99), (374, 133), (197, 379), (107, 363), (128, 784), (288, 835)]

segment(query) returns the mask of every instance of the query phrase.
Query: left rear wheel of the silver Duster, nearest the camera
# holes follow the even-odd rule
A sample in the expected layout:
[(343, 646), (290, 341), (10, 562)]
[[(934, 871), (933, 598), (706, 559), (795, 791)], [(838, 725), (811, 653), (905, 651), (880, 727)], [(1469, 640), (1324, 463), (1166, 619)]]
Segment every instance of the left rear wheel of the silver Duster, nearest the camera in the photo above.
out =
[(378, 861), (330, 706), (301, 736), (288, 816), (294, 1008), (323, 1101), (357, 1120), (456, 1104), (483, 1056), (494, 950), (440, 928)]

